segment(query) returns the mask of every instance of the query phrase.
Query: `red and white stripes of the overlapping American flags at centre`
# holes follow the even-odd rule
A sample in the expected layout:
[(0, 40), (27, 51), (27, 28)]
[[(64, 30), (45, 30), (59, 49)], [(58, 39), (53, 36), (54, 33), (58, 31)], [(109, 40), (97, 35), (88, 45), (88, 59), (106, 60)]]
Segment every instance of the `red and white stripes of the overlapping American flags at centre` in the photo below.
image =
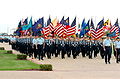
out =
[(71, 36), (74, 35), (76, 33), (76, 26), (74, 27), (69, 27), (69, 28), (65, 28), (65, 25), (63, 24), (57, 24), (55, 27), (52, 25), (52, 23), (50, 23), (49, 26), (44, 27), (42, 33), (45, 36), (48, 36), (49, 34), (51, 34), (51, 32), (54, 31), (55, 34), (57, 34), (60, 37), (67, 37), (67, 36)]

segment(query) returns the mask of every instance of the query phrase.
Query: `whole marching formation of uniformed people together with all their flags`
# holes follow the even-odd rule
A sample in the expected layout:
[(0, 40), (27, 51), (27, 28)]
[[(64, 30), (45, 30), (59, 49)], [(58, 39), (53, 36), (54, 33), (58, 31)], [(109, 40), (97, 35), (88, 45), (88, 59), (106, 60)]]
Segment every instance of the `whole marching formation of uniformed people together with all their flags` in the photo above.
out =
[[(51, 21), (51, 18), (44, 22), (40, 18), (32, 22), (32, 17), (28, 23), (28, 18), (20, 21), (15, 36), (8, 37), (12, 49), (26, 54), (32, 58), (43, 60), (44, 57), (51, 59), (54, 57), (72, 57), (78, 56), (95, 58), (100, 54), (105, 59), (106, 64), (110, 64), (112, 53), (116, 58), (116, 63), (120, 62), (120, 27), (118, 19), (112, 25), (108, 19), (104, 18), (94, 27), (93, 20), (76, 25), (76, 17), (69, 23), (69, 17), (63, 18), (59, 22), (57, 18)], [(103, 38), (105, 37), (105, 38)]]

